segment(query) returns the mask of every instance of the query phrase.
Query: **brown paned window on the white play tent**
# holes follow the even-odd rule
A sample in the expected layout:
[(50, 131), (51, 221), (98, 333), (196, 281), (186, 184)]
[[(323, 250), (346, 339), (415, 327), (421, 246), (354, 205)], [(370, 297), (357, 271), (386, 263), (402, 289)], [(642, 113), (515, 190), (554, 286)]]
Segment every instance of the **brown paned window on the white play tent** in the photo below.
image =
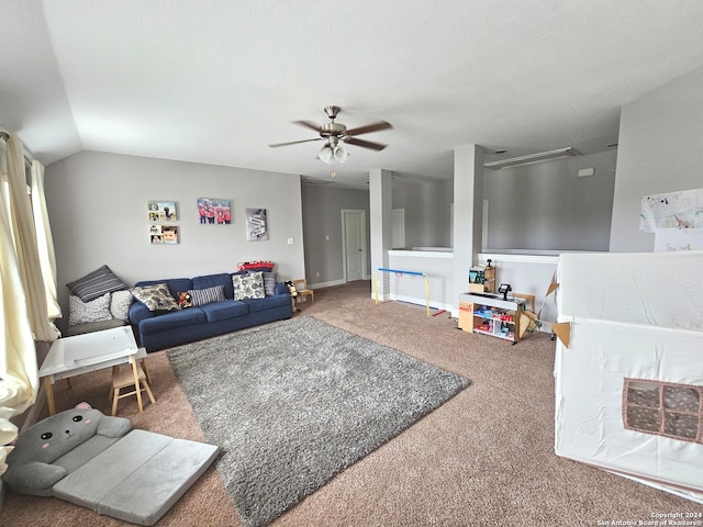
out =
[(703, 386), (625, 379), (625, 428), (703, 444), (702, 395)]

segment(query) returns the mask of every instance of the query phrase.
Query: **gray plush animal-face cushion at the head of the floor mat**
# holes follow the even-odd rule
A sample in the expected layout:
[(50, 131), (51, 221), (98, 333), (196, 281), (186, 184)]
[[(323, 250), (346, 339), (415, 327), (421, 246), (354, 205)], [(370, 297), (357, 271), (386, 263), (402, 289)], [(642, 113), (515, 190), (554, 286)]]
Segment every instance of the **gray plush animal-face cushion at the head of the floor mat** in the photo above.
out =
[(31, 426), (15, 440), (2, 479), (11, 490), (37, 496), (52, 487), (132, 429), (124, 417), (111, 417), (80, 403)]

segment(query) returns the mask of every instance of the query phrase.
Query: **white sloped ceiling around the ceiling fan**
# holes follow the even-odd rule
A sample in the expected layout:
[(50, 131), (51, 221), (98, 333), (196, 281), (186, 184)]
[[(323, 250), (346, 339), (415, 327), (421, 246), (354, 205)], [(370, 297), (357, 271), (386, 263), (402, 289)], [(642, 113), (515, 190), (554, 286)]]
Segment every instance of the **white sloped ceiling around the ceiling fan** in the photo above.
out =
[[(48, 165), (81, 149), (330, 179), (295, 120), (386, 120), (336, 181), (448, 178), (617, 143), (620, 108), (703, 66), (699, 0), (0, 0), (0, 127)], [(495, 159), (498, 156), (489, 157)]]

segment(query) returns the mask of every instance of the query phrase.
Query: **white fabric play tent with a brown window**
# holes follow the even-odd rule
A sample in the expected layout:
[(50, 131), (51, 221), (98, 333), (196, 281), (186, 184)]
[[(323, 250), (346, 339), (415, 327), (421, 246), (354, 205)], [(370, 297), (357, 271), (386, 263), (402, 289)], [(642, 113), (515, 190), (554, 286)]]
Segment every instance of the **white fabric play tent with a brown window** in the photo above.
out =
[(555, 450), (703, 503), (703, 251), (563, 254)]

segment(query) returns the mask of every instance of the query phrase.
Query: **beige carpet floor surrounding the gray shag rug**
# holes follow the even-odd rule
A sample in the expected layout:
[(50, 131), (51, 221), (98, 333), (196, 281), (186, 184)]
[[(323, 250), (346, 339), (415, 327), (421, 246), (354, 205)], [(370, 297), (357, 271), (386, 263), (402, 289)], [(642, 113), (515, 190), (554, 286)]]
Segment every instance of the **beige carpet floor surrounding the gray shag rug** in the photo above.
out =
[[(315, 291), (314, 304), (306, 302), (295, 316), (315, 316), (391, 346), (471, 385), (278, 518), (276, 527), (596, 526), (703, 513), (688, 500), (554, 453), (555, 343), (546, 334), (515, 346), (468, 334), (446, 313), (426, 317), (417, 306), (376, 305), (368, 281)], [(136, 428), (203, 440), (165, 352), (152, 354), (148, 365), (156, 404), (140, 414), (130, 397), (121, 401), (119, 415)], [(109, 375), (75, 378), (72, 389), (59, 382), (58, 408), (87, 401), (109, 412)], [(0, 525), (125, 524), (59, 500), (10, 493)], [(213, 467), (158, 525), (241, 523)]]

